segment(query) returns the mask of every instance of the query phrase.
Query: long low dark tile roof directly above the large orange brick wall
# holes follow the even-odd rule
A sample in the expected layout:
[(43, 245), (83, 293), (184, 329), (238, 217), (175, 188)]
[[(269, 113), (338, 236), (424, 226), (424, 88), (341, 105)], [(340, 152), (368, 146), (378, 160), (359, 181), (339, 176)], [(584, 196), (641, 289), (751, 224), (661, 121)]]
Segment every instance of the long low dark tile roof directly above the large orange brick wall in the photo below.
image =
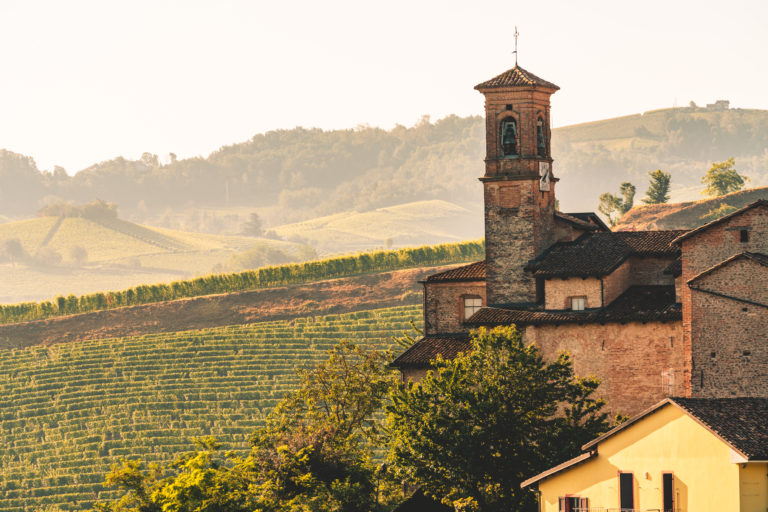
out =
[(608, 307), (587, 311), (545, 311), (486, 307), (467, 321), (471, 327), (565, 323), (668, 322), (682, 319), (674, 286), (632, 286)]

